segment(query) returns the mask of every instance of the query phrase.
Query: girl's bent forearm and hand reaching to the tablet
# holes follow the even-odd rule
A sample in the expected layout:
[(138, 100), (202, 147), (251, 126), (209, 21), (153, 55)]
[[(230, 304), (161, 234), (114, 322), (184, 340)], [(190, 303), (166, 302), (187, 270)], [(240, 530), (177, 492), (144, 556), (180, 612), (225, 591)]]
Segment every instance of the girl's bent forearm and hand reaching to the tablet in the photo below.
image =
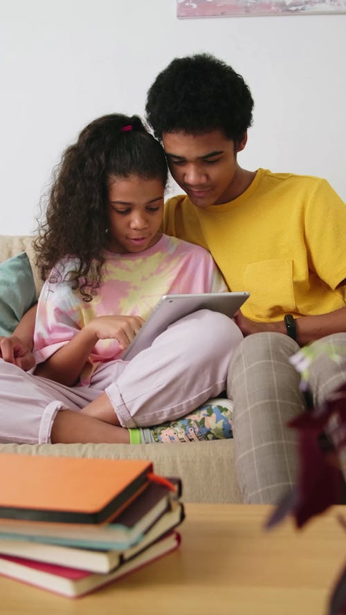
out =
[(88, 322), (46, 361), (39, 363), (35, 375), (71, 387), (78, 382), (82, 369), (98, 340), (118, 340), (119, 347), (123, 350), (134, 339), (143, 322), (140, 316), (98, 316)]

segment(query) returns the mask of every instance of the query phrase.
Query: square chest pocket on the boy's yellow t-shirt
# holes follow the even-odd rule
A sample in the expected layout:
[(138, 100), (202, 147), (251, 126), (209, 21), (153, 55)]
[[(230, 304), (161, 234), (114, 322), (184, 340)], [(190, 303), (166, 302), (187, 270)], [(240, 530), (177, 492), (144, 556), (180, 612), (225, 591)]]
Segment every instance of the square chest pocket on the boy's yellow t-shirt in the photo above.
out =
[(246, 265), (244, 288), (250, 292), (244, 304), (244, 315), (248, 318), (251, 318), (250, 311), (257, 320), (280, 319), (282, 314), (296, 311), (291, 259), (271, 259)]

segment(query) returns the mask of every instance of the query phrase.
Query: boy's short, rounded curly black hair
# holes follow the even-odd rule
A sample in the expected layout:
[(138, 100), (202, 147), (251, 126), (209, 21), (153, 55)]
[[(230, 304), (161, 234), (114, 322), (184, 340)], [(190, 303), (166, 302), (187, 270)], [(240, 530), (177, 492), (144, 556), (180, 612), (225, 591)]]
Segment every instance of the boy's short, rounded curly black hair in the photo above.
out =
[(177, 57), (147, 93), (146, 119), (156, 138), (165, 132), (221, 130), (235, 143), (252, 123), (253, 98), (241, 75), (213, 55)]

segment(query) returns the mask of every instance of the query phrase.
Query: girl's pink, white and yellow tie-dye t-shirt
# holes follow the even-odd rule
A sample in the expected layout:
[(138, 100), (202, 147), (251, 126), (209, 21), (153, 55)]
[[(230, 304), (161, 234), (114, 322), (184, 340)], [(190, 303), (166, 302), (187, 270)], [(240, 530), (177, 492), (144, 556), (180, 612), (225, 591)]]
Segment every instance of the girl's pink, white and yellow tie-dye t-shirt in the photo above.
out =
[[(83, 301), (66, 279), (75, 259), (57, 264), (44, 283), (37, 306), (34, 335), (36, 362), (43, 362), (71, 340), (97, 316), (139, 315), (144, 320), (162, 295), (216, 293), (227, 290), (210, 253), (200, 246), (162, 235), (140, 253), (104, 253), (102, 285), (89, 302)], [(53, 279), (57, 281), (53, 283)], [(121, 358), (117, 340), (98, 340), (82, 370), (80, 382), (88, 384), (100, 362)]]

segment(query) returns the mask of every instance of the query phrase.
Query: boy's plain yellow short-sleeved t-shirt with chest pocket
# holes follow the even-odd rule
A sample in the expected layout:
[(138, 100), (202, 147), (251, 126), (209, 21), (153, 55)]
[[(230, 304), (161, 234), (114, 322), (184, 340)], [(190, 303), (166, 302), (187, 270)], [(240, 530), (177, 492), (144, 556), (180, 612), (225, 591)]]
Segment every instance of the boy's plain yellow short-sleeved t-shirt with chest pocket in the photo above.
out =
[(346, 206), (324, 179), (259, 169), (237, 199), (206, 209), (166, 203), (165, 232), (210, 250), (247, 318), (282, 320), (345, 306)]

